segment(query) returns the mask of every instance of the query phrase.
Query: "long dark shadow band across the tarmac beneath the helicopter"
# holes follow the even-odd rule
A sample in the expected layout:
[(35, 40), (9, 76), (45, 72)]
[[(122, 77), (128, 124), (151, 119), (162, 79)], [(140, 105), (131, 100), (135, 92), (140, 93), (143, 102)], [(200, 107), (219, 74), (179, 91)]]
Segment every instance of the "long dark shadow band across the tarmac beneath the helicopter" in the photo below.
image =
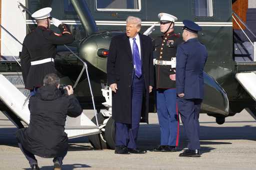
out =
[[(202, 124), (203, 125), (203, 124)], [(256, 127), (245, 125), (243, 127), (215, 127), (200, 126), (200, 144), (201, 145), (223, 145), (231, 144), (228, 140), (252, 140), (256, 141)], [(15, 132), (17, 128), (0, 128), (0, 145), (17, 147)], [(184, 128), (180, 124), (179, 149), (187, 145)], [(218, 142), (218, 140), (227, 140), (227, 142)], [(91, 151), (94, 150), (87, 137), (68, 140), (69, 151)], [(160, 143), (159, 124), (141, 124), (138, 132), (137, 147), (141, 149), (153, 149)]]

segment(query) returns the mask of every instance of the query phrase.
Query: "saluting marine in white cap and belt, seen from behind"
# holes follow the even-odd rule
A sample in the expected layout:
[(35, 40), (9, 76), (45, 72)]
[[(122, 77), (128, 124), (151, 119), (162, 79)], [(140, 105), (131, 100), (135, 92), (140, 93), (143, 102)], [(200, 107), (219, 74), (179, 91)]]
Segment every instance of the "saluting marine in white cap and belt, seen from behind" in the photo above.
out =
[[(56, 18), (51, 18), (50, 11), (50, 7), (45, 7), (32, 14), (37, 27), (25, 36), (19, 56), (25, 89), (30, 90), (31, 95), (43, 85), (42, 80), (46, 74), (56, 73), (56, 45), (68, 44), (74, 40), (68, 26)], [(49, 29), (50, 19), (61, 34)]]

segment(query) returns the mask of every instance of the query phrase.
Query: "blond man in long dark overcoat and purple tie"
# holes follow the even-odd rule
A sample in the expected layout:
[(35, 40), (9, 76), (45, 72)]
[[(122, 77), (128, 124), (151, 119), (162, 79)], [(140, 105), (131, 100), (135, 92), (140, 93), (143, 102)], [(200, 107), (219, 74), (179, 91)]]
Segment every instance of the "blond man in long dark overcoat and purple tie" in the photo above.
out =
[(148, 123), (153, 86), (152, 40), (139, 33), (141, 20), (129, 16), (126, 33), (114, 36), (107, 58), (107, 81), (112, 89), (115, 153), (144, 154), (136, 148), (139, 122)]

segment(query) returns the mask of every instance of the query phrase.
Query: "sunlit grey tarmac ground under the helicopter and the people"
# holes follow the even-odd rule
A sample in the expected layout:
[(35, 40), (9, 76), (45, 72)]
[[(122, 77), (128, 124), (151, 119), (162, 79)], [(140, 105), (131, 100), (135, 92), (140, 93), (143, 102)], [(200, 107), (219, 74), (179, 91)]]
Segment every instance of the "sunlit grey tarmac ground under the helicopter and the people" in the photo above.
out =
[[(84, 111), (92, 117), (92, 111)], [(153, 149), (159, 144), (160, 130), (155, 113), (149, 114), (149, 125), (141, 124), (137, 144)], [(17, 147), (17, 129), (0, 113), (0, 170), (30, 170)], [(187, 145), (180, 123), (179, 152), (144, 155), (116, 155), (113, 150), (94, 150), (87, 137), (69, 140), (63, 170), (256, 170), (256, 121), (242, 111), (217, 125), (213, 117), (200, 114), (200, 158), (179, 158)], [(51, 159), (38, 158), (40, 170), (52, 170)]]

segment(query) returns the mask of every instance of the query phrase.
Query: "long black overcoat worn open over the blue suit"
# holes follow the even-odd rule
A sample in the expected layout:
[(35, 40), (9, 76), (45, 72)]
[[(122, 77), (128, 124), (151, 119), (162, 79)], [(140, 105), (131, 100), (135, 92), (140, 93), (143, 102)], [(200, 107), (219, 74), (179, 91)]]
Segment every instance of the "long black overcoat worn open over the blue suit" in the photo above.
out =
[[(148, 123), (149, 85), (153, 86), (153, 47), (150, 37), (139, 34), (142, 74), (145, 93), (143, 96), (141, 120)], [(112, 118), (115, 122), (131, 124), (131, 85), (133, 57), (129, 38), (126, 34), (114, 36), (107, 57), (108, 85), (116, 83), (117, 92), (112, 92)]]

